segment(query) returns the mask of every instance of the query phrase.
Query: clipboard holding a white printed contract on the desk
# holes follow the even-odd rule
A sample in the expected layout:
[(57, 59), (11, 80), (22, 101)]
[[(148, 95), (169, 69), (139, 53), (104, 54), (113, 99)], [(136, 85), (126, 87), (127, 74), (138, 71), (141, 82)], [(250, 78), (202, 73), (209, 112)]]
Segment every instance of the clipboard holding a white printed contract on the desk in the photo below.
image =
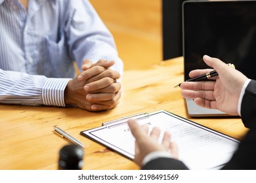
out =
[(133, 159), (135, 138), (127, 125), (129, 119), (137, 120), (140, 125), (148, 125), (149, 131), (154, 126), (160, 127), (160, 142), (163, 132), (170, 131), (172, 141), (177, 142), (179, 146), (179, 159), (189, 169), (220, 169), (229, 161), (240, 144), (237, 139), (166, 110), (144, 112), (104, 122), (102, 126), (81, 131), (80, 134), (125, 158)]

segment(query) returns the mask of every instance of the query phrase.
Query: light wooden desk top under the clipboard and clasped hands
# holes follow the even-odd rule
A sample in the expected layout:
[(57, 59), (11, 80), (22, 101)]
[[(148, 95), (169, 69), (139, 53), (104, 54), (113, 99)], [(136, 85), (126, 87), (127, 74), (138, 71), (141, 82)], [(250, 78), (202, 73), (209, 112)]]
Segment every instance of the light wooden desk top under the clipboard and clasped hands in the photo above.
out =
[[(179, 88), (173, 88), (183, 80), (182, 65), (182, 58), (177, 58), (144, 70), (125, 71), (121, 102), (106, 112), (0, 105), (0, 169), (57, 169), (58, 152), (68, 141), (53, 132), (54, 125), (85, 144), (83, 169), (139, 169), (133, 161), (79, 132), (116, 118), (161, 109), (189, 118)], [(237, 139), (246, 131), (240, 118), (190, 119)]]

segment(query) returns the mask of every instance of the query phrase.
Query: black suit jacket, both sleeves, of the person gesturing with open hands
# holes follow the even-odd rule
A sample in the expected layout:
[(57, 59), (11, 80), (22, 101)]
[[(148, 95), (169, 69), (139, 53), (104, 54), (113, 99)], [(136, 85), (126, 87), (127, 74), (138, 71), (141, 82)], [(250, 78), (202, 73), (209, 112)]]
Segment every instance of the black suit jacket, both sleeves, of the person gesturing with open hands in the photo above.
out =
[[(241, 116), (245, 127), (250, 130), (238, 146), (230, 161), (222, 169), (256, 169), (256, 81), (251, 80), (245, 89), (241, 105)], [(158, 158), (144, 167), (144, 170), (186, 170), (188, 167), (177, 159)]]

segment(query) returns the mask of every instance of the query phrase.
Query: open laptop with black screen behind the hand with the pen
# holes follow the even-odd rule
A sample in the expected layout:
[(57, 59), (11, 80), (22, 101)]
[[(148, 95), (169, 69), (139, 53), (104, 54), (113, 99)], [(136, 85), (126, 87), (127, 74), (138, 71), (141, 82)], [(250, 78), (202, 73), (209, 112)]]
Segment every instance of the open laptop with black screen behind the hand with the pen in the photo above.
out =
[[(194, 69), (209, 68), (203, 55), (233, 63), (256, 79), (256, 1), (185, 1), (182, 4), (184, 80)], [(186, 99), (188, 115), (228, 116)]]

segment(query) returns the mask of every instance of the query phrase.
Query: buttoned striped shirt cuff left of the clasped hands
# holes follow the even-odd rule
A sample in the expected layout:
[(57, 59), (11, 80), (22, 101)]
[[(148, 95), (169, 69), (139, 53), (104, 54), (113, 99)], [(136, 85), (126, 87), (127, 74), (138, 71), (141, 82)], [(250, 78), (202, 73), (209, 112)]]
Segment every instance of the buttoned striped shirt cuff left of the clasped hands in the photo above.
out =
[(42, 89), (43, 105), (65, 107), (64, 91), (70, 78), (47, 78)]

